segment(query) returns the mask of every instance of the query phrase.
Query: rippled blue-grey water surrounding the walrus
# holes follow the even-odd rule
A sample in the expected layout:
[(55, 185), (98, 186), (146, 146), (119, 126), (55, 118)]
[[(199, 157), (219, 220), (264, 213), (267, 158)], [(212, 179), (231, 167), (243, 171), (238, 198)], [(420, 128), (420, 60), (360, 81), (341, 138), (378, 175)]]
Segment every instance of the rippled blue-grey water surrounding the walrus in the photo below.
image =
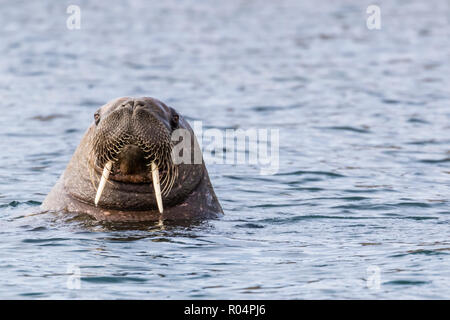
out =
[[(447, 1), (381, 1), (381, 30), (356, 0), (76, 2), (72, 31), (1, 5), (1, 298), (450, 298)], [(194, 225), (40, 214), (118, 96), (278, 128), (278, 173), (208, 164), (225, 216)]]

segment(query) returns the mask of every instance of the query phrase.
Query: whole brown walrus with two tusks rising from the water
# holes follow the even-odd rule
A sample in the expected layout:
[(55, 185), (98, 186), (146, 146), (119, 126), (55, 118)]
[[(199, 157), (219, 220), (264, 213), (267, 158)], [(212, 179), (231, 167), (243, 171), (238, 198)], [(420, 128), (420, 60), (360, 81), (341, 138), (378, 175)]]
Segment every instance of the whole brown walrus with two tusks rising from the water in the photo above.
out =
[[(190, 133), (175, 109), (150, 97), (118, 98), (100, 107), (42, 209), (105, 221), (164, 221), (223, 214), (203, 157), (175, 161), (177, 130)], [(188, 140), (184, 141), (185, 143)], [(186, 158), (184, 158), (186, 159)]]

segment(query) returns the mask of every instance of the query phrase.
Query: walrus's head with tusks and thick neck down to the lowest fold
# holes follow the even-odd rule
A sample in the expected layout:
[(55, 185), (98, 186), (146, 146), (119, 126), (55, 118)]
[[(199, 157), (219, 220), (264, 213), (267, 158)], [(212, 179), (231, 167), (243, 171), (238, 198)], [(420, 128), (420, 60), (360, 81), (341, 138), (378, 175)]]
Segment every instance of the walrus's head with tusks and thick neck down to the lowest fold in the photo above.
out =
[(205, 174), (203, 163), (173, 160), (179, 141), (172, 140), (172, 133), (178, 129), (192, 132), (181, 115), (154, 98), (126, 97), (105, 104), (95, 112), (69, 165), (74, 169), (66, 171), (67, 190), (101, 208), (162, 213), (183, 201)]

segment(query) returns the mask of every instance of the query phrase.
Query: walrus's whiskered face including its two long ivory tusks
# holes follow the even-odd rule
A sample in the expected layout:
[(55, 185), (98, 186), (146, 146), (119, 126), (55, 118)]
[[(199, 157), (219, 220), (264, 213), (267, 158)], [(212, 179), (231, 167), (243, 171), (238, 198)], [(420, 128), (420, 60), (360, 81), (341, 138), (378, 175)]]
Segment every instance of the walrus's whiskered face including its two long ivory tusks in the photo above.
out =
[(120, 98), (101, 107), (94, 120), (89, 168), (102, 175), (95, 205), (112, 180), (152, 186), (162, 213), (162, 197), (178, 177), (171, 155), (171, 134), (180, 121), (177, 112), (153, 98)]

